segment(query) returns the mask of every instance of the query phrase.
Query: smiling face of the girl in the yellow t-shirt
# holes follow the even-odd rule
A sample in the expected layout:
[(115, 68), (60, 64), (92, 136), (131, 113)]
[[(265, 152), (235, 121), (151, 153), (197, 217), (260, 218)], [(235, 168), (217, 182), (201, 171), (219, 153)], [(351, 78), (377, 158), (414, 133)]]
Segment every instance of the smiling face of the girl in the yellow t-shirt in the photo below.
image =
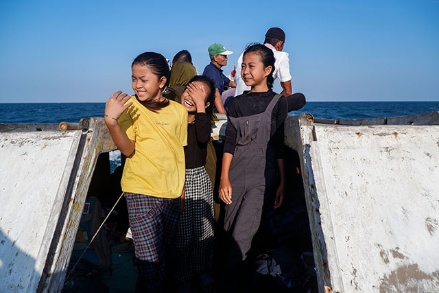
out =
[(132, 90), (141, 101), (148, 101), (162, 97), (162, 89), (166, 78), (159, 78), (145, 65), (132, 65)]

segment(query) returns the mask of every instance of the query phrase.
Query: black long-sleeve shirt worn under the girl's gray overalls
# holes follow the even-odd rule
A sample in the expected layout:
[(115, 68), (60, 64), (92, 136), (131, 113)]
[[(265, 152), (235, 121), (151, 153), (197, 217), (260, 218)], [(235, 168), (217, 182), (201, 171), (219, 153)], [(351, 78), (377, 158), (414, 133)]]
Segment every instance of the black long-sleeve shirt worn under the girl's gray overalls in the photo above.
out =
[[(262, 93), (243, 93), (242, 95), (237, 95), (233, 98), (228, 108), (228, 117), (246, 117), (251, 115), (256, 115), (263, 113), (268, 107), (268, 104), (272, 101), (274, 91), (267, 91)], [(287, 117), (287, 99), (282, 96), (272, 111), (271, 119), (271, 131), (270, 131), (270, 141), (268, 142), (273, 148), (277, 159), (284, 157), (284, 139), (283, 139), (283, 128), (285, 118)], [(224, 152), (229, 154), (235, 153), (235, 142), (236, 142), (237, 130), (228, 120), (226, 126), (226, 141), (224, 143)]]

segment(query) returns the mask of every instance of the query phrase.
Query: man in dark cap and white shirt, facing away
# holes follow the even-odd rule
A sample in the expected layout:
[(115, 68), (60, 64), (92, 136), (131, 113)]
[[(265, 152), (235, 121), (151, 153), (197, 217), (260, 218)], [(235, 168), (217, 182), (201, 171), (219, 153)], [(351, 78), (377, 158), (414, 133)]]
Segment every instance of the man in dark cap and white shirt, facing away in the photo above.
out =
[[(283, 52), (283, 44), (285, 43), (285, 32), (281, 30), (279, 27), (271, 27), (270, 30), (265, 34), (264, 45), (273, 50), (274, 58), (276, 58), (276, 62), (274, 63), (274, 72), (273, 78), (276, 78), (281, 82), (282, 86), (282, 95), (285, 97), (289, 97), (292, 94), (292, 85), (291, 85), (291, 75), (289, 74), (289, 58), (288, 53)], [(235, 75), (236, 80), (236, 91), (235, 97), (237, 95), (241, 95), (244, 91), (250, 91), (250, 86), (246, 86), (244, 80), (241, 78), (241, 64), (242, 58), (244, 56), (241, 54), (238, 58), (237, 62), (237, 72)]]

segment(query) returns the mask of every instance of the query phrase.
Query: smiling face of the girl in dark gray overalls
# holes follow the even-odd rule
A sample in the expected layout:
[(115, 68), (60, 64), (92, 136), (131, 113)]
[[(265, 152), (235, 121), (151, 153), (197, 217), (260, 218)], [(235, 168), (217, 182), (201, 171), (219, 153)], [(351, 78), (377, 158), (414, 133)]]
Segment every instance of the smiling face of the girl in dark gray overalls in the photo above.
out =
[(247, 86), (267, 85), (267, 76), (271, 73), (272, 67), (265, 67), (261, 56), (255, 52), (248, 52), (244, 55), (241, 65), (241, 78)]

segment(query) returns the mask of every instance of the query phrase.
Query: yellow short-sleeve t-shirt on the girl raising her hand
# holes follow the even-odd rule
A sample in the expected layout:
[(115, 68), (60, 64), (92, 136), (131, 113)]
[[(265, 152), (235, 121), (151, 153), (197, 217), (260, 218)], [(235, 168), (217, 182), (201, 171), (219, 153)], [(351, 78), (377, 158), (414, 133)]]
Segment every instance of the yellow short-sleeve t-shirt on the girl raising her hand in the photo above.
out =
[[(134, 103), (119, 118), (119, 126), (135, 141), (134, 152), (126, 159), (122, 190), (160, 198), (178, 198), (185, 184), (187, 110), (169, 101), (154, 113)], [(130, 102), (129, 101), (129, 102)]]

